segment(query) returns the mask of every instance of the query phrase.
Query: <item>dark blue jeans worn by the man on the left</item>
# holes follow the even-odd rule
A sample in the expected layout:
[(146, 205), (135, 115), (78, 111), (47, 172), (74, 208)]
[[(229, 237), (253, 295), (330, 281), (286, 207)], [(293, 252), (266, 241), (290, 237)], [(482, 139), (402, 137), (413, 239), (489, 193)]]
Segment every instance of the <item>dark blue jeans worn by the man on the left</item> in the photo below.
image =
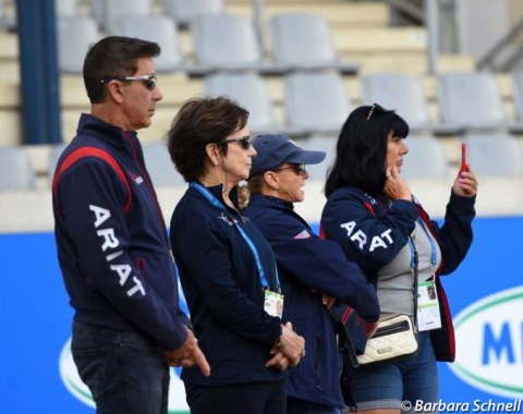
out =
[(169, 367), (147, 337), (74, 322), (71, 351), (97, 414), (167, 414)]

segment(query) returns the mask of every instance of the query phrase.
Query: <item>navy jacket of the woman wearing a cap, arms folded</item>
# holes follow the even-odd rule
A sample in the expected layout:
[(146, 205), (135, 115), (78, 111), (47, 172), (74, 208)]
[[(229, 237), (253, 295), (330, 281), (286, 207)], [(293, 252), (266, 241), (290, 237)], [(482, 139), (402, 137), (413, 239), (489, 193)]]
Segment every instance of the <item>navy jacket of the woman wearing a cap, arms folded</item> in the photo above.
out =
[(290, 372), (288, 395), (342, 407), (336, 332), (321, 294), (339, 299), (364, 319), (375, 321), (379, 306), (374, 287), (337, 243), (313, 233), (291, 203), (254, 194), (245, 215), (275, 251), (284, 293), (283, 318), (305, 338), (306, 356)]

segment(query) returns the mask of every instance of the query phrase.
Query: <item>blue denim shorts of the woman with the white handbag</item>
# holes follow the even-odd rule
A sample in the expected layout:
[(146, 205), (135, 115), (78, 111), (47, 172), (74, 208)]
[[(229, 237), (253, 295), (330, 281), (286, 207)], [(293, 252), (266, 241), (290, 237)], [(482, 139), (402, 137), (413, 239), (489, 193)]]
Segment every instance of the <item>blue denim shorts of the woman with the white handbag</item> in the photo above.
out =
[[(417, 354), (397, 363), (372, 368), (350, 368), (351, 394), (357, 411), (402, 409), (403, 401), (437, 402), (438, 368), (429, 332), (419, 333)], [(403, 405), (404, 407), (405, 405)]]

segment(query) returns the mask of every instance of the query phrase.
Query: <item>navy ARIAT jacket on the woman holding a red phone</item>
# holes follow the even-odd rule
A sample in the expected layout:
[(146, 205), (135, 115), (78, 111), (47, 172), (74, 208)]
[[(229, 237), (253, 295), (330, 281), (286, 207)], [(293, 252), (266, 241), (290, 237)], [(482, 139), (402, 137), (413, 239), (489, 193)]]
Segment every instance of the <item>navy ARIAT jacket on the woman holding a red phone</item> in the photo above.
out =
[(422, 218), (441, 249), (436, 275), (442, 328), (430, 331), (438, 361), (453, 361), (452, 318), (439, 275), (455, 270), (472, 244), (475, 197), (451, 193), (442, 227), (429, 219), (415, 202), (397, 200), (390, 206), (385, 197), (374, 198), (352, 186), (337, 188), (327, 199), (321, 215), (321, 232), (340, 243), (348, 259), (360, 264), (367, 279), (377, 281), (379, 269), (391, 263)]

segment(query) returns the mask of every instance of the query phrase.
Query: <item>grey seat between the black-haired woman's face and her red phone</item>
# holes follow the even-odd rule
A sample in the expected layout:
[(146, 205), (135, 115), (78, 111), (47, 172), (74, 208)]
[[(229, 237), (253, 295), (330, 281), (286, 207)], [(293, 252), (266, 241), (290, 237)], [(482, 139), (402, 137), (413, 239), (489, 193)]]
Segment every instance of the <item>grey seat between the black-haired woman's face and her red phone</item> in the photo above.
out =
[(401, 174), (408, 179), (440, 179), (450, 173), (443, 145), (434, 136), (409, 136), (409, 154), (403, 159)]

